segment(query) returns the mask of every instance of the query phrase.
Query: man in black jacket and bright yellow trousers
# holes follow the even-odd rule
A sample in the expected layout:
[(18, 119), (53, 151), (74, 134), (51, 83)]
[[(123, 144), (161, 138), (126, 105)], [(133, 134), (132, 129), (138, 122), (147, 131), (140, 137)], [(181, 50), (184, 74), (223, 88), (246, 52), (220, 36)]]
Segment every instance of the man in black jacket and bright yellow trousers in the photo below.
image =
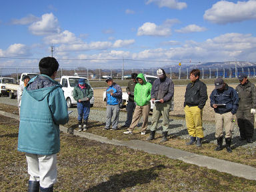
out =
[(190, 135), (190, 141), (186, 144), (193, 145), (196, 142), (197, 147), (201, 147), (203, 139), (203, 107), (205, 107), (208, 99), (207, 87), (205, 83), (200, 81), (199, 69), (192, 69), (189, 78), (191, 83), (187, 84), (184, 101), (187, 131)]

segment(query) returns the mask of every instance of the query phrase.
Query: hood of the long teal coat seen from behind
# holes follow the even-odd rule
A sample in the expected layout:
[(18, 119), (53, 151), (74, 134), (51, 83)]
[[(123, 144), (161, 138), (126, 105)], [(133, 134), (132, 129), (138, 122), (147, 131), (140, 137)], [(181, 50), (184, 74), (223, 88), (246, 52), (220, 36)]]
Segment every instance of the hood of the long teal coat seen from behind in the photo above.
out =
[(38, 75), (31, 79), (25, 90), (33, 99), (37, 101), (42, 101), (51, 91), (61, 87), (61, 85), (51, 79), (51, 77), (47, 75)]

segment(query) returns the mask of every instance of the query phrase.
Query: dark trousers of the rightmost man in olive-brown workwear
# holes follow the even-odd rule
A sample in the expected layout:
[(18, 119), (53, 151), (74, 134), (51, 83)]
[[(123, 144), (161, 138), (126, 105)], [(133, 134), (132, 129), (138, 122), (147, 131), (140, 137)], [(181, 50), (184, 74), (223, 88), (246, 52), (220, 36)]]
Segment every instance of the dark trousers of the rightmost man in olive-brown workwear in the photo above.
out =
[(247, 139), (253, 138), (254, 133), (254, 115), (250, 109), (237, 111), (237, 124), (240, 131), (240, 137)]

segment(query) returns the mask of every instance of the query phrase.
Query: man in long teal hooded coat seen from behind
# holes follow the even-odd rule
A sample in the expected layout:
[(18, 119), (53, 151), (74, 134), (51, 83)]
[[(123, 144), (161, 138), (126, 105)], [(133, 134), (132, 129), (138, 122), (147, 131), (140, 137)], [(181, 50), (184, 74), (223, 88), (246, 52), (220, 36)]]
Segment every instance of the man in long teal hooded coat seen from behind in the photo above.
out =
[(18, 151), (27, 158), (28, 191), (53, 191), (57, 180), (59, 125), (69, 121), (63, 90), (53, 80), (58, 68), (55, 58), (41, 59), (41, 75), (29, 81), (22, 95)]

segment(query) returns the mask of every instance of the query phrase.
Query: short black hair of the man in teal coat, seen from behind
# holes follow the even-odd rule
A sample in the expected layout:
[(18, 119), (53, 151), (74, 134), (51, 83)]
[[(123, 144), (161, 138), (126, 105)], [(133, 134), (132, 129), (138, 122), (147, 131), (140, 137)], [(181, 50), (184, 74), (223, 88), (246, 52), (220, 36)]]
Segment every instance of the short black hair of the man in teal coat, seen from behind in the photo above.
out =
[(54, 57), (43, 57), (39, 62), (40, 73), (48, 75), (49, 77), (58, 69), (59, 63)]

